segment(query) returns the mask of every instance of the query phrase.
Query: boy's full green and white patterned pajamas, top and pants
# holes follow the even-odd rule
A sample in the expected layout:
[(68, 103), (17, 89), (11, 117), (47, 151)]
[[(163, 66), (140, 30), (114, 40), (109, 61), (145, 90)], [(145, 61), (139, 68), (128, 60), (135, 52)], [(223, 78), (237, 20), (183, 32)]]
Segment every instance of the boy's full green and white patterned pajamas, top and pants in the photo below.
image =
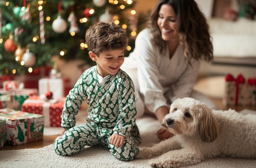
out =
[[(69, 92), (61, 116), (61, 126), (68, 130), (56, 138), (54, 150), (58, 155), (68, 156), (84, 146), (106, 146), (116, 158), (132, 160), (141, 141), (135, 124), (137, 112), (132, 80), (119, 69), (100, 86), (96, 67), (84, 71)], [(87, 122), (74, 127), (75, 115), (86, 97), (89, 104)], [(114, 133), (125, 137), (122, 146), (115, 147), (108, 142)]]

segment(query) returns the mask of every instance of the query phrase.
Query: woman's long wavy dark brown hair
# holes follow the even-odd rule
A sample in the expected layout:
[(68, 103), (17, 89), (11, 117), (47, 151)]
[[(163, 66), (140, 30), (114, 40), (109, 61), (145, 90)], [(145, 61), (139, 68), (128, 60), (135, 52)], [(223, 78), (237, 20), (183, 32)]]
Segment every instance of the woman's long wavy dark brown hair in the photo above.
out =
[(190, 63), (189, 55), (196, 60), (211, 61), (213, 47), (209, 26), (204, 14), (199, 10), (194, 0), (160, 0), (151, 12), (149, 27), (154, 37), (154, 43), (164, 52), (166, 41), (161, 37), (157, 25), (159, 11), (163, 4), (172, 6), (176, 13), (177, 27), (180, 33), (180, 43), (185, 46), (184, 54)]

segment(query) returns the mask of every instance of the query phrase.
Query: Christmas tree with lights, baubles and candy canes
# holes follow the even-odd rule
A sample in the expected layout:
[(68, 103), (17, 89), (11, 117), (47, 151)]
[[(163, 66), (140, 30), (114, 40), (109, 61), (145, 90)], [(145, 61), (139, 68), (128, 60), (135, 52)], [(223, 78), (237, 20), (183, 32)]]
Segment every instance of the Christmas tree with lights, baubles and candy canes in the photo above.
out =
[(133, 5), (132, 0), (0, 0), (0, 75), (32, 72), (51, 63), (53, 55), (93, 65), (84, 44), (86, 29), (114, 21), (136, 36)]

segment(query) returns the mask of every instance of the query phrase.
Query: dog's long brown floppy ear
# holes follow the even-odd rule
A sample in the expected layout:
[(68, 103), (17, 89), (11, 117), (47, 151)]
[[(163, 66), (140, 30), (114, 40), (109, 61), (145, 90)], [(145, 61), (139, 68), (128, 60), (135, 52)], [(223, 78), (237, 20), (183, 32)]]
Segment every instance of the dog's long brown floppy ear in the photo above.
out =
[(212, 110), (205, 105), (198, 105), (199, 110), (199, 136), (203, 142), (212, 142), (217, 138), (220, 124), (212, 115)]

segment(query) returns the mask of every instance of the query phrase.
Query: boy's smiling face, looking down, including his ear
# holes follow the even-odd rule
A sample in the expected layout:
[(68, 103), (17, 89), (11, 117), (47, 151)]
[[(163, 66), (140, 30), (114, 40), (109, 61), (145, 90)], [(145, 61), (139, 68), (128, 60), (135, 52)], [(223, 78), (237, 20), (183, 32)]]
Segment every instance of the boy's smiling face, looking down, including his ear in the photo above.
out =
[(97, 72), (101, 77), (116, 74), (124, 63), (124, 50), (102, 52), (98, 56), (90, 51), (89, 55), (93, 61), (96, 61)]

